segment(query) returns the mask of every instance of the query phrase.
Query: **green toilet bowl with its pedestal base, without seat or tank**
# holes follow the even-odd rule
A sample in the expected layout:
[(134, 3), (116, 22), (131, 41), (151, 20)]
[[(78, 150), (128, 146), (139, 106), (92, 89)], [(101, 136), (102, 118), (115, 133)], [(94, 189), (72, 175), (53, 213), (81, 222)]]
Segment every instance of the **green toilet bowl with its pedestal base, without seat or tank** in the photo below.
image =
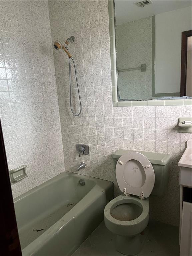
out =
[(105, 226), (116, 234), (116, 249), (125, 255), (138, 254), (148, 234), (149, 199), (120, 195), (104, 210)]

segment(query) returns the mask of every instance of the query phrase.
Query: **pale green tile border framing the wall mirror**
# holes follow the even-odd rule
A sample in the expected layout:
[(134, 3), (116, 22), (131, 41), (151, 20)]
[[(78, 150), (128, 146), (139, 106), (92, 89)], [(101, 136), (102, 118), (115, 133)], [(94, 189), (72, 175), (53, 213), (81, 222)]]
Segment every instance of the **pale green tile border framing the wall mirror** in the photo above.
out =
[(110, 37), (111, 82), (112, 82), (113, 107), (192, 105), (192, 99), (118, 101), (114, 0), (108, 0), (108, 12), (109, 12), (109, 37)]

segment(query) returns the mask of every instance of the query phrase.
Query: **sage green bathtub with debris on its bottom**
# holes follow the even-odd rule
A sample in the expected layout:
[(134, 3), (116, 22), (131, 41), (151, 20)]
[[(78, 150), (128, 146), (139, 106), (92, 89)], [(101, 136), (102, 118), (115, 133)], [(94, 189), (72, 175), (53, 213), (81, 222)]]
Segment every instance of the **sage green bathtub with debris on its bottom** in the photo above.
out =
[(15, 198), (22, 255), (71, 255), (101, 223), (113, 198), (112, 182), (69, 172)]

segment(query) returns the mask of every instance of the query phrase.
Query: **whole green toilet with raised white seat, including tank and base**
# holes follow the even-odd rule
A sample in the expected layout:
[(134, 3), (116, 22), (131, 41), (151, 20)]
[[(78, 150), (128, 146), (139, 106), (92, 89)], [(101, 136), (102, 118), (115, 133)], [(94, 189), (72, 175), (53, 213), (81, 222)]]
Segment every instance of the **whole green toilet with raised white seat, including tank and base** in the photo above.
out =
[(167, 188), (170, 155), (118, 150), (112, 158), (122, 195), (106, 205), (104, 222), (117, 235), (117, 251), (136, 255), (148, 234), (149, 196), (162, 196)]

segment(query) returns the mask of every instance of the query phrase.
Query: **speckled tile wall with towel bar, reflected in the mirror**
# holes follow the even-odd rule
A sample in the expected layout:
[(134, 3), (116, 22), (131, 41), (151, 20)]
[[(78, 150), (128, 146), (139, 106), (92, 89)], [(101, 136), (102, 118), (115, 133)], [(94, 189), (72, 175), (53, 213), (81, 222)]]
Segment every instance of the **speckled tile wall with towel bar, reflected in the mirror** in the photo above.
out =
[[(152, 98), (152, 17), (117, 25), (116, 51), (119, 69), (146, 64), (146, 71), (132, 70), (118, 75), (120, 99)], [(142, 47), (141, 47), (142, 45)]]

